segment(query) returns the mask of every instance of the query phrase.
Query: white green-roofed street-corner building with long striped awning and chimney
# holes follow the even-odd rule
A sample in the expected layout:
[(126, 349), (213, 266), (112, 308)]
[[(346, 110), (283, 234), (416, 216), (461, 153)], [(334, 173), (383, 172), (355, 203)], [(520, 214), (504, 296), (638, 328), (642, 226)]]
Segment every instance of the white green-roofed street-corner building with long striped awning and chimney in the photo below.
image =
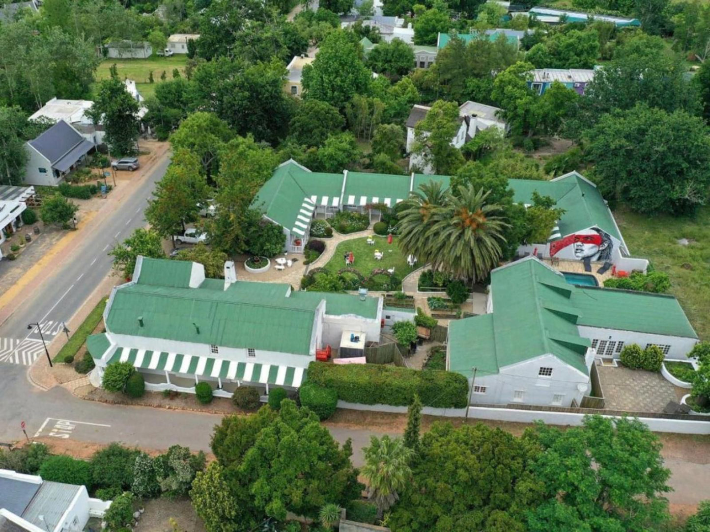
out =
[(289, 284), (207, 279), (197, 262), (138, 257), (133, 279), (115, 287), (106, 332), (90, 336), (100, 381), (111, 362), (131, 362), (146, 388), (194, 392), (208, 382), (230, 397), (249, 385), (297, 389), (317, 350), (337, 350), (345, 333), (379, 342), (381, 297), (292, 292)]

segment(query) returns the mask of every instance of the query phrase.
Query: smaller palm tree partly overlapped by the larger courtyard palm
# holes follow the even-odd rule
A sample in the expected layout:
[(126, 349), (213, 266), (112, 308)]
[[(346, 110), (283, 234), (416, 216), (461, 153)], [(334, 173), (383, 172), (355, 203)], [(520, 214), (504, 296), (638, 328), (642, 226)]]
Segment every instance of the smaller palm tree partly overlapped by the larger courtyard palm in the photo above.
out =
[(432, 214), (446, 200), (446, 191), (440, 182), (420, 184), (419, 190), (410, 193), (403, 201), (399, 214), (399, 245), (405, 255), (414, 255), (420, 264), (429, 262), (426, 233), (431, 226)]

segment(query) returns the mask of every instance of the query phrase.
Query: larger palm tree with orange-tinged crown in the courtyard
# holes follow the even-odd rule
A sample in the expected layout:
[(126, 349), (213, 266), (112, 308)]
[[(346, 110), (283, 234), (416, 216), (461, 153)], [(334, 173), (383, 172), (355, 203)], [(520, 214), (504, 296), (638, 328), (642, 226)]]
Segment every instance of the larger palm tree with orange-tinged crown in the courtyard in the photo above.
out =
[(490, 192), (473, 185), (459, 187), (459, 195), (447, 194), (443, 206), (434, 209), (425, 233), (433, 270), (443, 270), (474, 282), (488, 275), (501, 259), (503, 230), (508, 226), (497, 204), (486, 204)]

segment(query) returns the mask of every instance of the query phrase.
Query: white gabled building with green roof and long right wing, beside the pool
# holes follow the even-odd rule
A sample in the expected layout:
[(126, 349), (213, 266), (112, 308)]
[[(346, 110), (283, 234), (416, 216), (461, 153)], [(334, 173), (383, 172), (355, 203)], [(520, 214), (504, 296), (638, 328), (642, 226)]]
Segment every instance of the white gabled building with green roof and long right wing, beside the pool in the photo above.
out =
[(580, 404), (595, 358), (629, 343), (687, 358), (698, 341), (674, 297), (569, 284), (535, 257), (491, 272), (486, 310), (449, 323), (447, 370), (473, 383), (472, 404)]

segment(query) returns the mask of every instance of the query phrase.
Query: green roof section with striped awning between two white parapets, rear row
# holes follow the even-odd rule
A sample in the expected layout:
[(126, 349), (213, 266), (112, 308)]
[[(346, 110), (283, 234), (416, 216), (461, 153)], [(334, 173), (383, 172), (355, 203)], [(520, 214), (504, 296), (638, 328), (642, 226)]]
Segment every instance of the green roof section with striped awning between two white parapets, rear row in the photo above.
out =
[(394, 206), (398, 200), (408, 198), (410, 182), (408, 175), (348, 172), (343, 204), (389, 203)]

